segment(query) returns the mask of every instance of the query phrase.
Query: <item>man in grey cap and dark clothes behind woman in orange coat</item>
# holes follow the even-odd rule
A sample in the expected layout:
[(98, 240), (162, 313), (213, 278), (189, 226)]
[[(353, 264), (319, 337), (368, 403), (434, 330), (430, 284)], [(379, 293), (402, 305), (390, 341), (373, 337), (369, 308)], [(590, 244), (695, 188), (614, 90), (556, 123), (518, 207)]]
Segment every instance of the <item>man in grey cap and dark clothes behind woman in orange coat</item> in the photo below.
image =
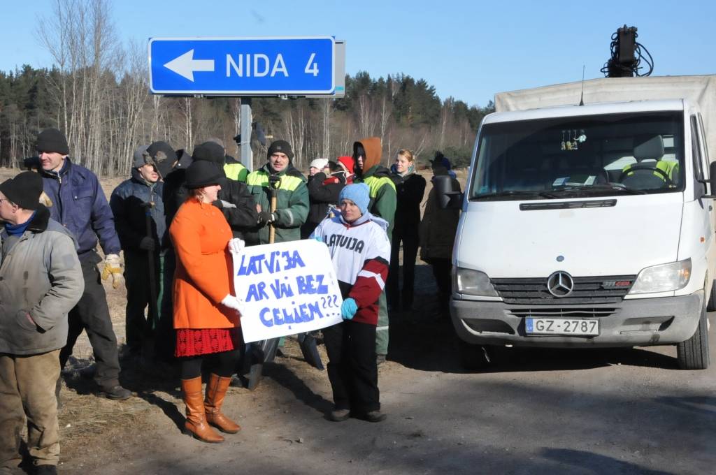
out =
[[(166, 142), (138, 147), (132, 176), (120, 183), (110, 196), (115, 228), (125, 253), (125, 338), (130, 356), (135, 358), (142, 356), (142, 347), (153, 347), (153, 330), (160, 320), (157, 301), (162, 283), (160, 252), (167, 223), (159, 167), (175, 160), (176, 154)], [(154, 355), (143, 356), (153, 358)]]

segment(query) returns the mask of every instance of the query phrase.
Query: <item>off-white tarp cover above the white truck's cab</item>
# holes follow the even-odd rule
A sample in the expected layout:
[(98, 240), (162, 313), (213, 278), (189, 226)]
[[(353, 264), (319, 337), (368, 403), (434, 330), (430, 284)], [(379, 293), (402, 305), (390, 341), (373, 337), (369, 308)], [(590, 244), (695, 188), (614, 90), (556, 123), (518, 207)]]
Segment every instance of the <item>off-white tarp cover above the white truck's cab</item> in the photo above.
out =
[[(543, 109), (578, 105), (582, 83), (522, 89), (495, 94), (495, 110)], [(716, 161), (716, 75), (669, 77), (611, 77), (584, 82), (584, 104), (651, 99), (687, 99), (698, 104), (706, 129), (709, 158)]]

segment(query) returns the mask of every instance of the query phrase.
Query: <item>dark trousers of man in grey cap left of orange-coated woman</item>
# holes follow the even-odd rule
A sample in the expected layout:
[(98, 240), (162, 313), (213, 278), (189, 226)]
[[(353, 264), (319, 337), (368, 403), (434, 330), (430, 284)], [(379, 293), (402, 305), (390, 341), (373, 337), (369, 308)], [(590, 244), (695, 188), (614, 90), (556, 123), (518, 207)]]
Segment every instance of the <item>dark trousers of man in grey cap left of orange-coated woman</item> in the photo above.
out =
[[(159, 253), (153, 253), (154, 283), (160, 289)], [(127, 307), (125, 312), (125, 336), (132, 352), (139, 352), (142, 343), (153, 337), (153, 324), (158, 323), (158, 302), (150, 305), (150, 272), (146, 252), (125, 251), (125, 285)], [(148, 308), (147, 308), (148, 307)], [(146, 310), (146, 316), (145, 316)]]

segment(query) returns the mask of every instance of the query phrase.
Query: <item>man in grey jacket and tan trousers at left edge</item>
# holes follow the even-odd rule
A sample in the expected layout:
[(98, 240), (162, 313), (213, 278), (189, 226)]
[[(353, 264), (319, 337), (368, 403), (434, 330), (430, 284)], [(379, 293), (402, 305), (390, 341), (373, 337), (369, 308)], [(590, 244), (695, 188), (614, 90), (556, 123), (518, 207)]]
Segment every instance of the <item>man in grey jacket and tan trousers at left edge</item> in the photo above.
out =
[(84, 278), (71, 233), (41, 193), (35, 172), (0, 184), (0, 473), (19, 473), (23, 426), (33, 473), (56, 474), (59, 462), (59, 351)]

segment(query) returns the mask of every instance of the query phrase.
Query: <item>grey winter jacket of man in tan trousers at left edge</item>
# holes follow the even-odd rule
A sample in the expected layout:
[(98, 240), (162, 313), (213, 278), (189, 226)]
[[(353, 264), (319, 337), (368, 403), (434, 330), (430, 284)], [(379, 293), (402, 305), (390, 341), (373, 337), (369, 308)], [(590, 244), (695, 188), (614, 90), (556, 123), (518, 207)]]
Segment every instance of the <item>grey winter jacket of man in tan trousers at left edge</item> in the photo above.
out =
[[(0, 243), (7, 238), (2, 227)], [(34, 355), (67, 343), (67, 313), (84, 292), (75, 246), (43, 205), (7, 255), (0, 245), (0, 353)]]

